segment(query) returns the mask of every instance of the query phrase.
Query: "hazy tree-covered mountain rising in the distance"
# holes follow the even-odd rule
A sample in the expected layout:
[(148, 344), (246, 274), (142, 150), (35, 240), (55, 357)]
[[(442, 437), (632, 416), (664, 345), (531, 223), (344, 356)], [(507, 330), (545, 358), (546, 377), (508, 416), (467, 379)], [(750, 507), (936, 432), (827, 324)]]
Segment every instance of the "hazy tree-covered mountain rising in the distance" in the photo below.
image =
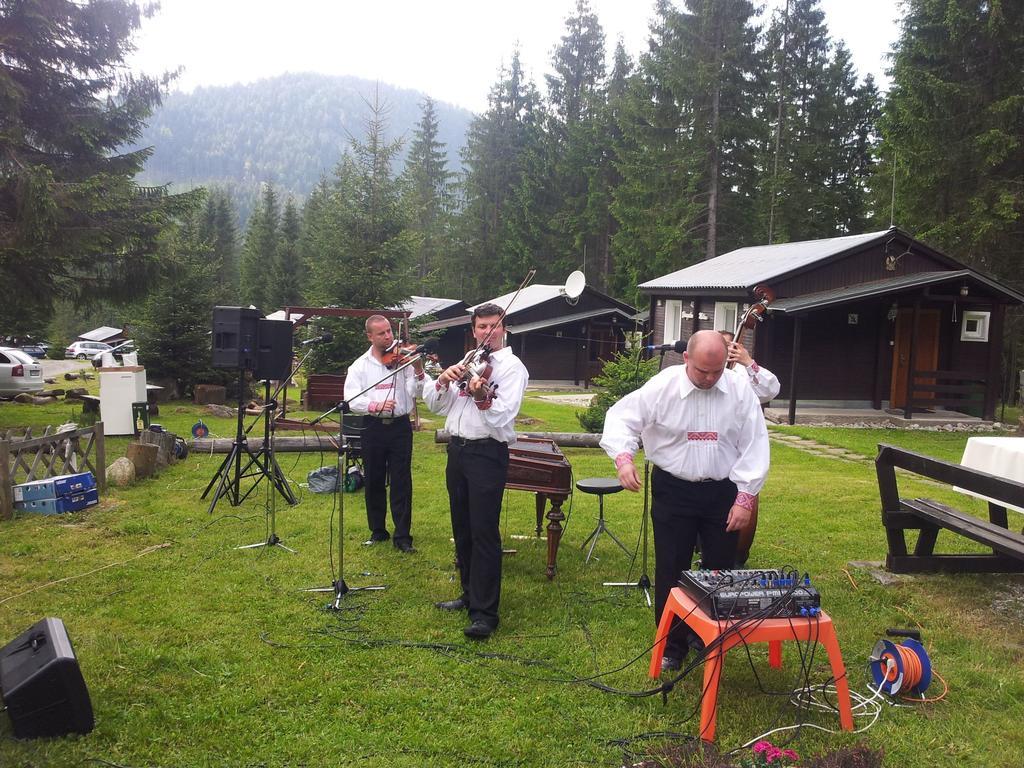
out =
[[(387, 138), (404, 138), (408, 146), (425, 94), (386, 83), (301, 73), (174, 91), (135, 142), (154, 147), (139, 182), (225, 189), (244, 226), (264, 182), (304, 199), (337, 165), (349, 138), (361, 135), (377, 93), (391, 108)], [(442, 102), (435, 109), (438, 138), (447, 146), (449, 165), (458, 169), (473, 115)], [(404, 159), (401, 152), (397, 161)]]

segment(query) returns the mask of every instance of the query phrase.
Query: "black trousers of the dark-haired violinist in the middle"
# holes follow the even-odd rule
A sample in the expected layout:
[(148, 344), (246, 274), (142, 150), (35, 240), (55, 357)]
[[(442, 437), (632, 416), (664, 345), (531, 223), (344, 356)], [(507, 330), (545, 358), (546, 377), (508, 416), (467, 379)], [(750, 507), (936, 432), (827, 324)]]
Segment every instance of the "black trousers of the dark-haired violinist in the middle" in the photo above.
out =
[(462, 441), (447, 446), (449, 507), (469, 620), (498, 627), (502, 594), (502, 537), (499, 522), (509, 470), (509, 449), (498, 440)]

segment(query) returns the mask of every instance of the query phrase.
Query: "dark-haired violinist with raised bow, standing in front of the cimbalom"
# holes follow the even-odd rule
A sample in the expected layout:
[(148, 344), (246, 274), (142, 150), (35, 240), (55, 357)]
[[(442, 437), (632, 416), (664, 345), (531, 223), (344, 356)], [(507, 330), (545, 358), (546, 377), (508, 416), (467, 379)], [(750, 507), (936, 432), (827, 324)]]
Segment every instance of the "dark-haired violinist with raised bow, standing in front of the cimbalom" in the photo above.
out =
[[(502, 589), (502, 538), (499, 519), (509, 444), (529, 373), (505, 346), (504, 311), (497, 304), (473, 310), (474, 357), (445, 369), (437, 381), (427, 377), (423, 399), (444, 416), (450, 435), (444, 478), (462, 594), (437, 603), (443, 610), (469, 611), (463, 630), (482, 640), (498, 628)], [(490, 350), (487, 353), (487, 350)]]

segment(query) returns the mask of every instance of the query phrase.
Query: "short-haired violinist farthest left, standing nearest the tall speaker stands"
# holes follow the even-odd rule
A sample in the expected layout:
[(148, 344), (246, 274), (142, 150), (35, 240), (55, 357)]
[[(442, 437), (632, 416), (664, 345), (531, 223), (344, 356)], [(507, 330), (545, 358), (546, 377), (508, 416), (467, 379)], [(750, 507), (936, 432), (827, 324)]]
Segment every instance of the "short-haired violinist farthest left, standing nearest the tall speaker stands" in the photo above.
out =
[[(364, 414), (362, 466), (366, 471), (367, 522), (370, 541), (386, 542), (387, 486), (391, 485), (391, 519), (395, 549), (415, 552), (413, 536), (413, 425), (409, 415), (424, 380), (423, 362), (392, 371), (389, 367), (395, 346), (387, 317), (367, 318), (370, 348), (352, 362), (345, 376), (345, 399), (352, 411)], [(369, 392), (354, 396), (374, 384)]]

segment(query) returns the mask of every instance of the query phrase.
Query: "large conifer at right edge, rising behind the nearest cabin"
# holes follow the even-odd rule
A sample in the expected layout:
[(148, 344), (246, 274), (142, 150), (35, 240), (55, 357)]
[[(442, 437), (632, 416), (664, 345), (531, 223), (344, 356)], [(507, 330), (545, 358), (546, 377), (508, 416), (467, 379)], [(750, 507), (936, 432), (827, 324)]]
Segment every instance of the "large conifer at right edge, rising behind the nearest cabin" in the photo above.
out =
[(881, 155), (896, 224), (1011, 284), (1024, 252), (1024, 5), (908, 0)]

